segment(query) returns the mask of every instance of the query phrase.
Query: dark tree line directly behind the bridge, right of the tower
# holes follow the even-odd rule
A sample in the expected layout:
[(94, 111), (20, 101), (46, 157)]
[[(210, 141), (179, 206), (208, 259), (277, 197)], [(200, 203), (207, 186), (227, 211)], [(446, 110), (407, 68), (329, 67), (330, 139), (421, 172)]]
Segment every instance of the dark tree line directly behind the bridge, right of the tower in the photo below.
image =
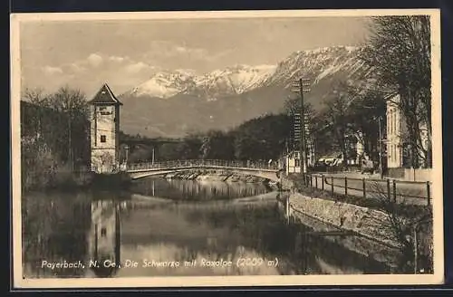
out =
[[(159, 160), (225, 159), (268, 160), (280, 158), (291, 130), (285, 114), (263, 115), (228, 131), (211, 130), (190, 134), (175, 143), (160, 146)], [(149, 161), (152, 148), (141, 146), (130, 153), (130, 162)]]

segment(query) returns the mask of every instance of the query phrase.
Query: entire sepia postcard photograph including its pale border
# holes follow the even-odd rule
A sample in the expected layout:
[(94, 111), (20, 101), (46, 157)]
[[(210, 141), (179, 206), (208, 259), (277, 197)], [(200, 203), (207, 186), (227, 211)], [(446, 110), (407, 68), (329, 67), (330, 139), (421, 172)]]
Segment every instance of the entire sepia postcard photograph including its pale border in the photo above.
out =
[(442, 283), (439, 15), (12, 14), (14, 286)]

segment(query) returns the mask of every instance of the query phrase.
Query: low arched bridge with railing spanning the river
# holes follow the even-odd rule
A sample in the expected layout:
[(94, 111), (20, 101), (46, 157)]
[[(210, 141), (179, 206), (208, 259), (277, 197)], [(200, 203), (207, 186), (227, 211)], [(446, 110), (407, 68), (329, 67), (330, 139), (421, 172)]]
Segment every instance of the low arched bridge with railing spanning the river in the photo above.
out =
[(132, 179), (138, 179), (193, 169), (227, 171), (232, 174), (263, 177), (275, 182), (279, 180), (280, 171), (282, 171), (276, 165), (265, 162), (187, 159), (130, 164), (126, 172), (130, 174)]

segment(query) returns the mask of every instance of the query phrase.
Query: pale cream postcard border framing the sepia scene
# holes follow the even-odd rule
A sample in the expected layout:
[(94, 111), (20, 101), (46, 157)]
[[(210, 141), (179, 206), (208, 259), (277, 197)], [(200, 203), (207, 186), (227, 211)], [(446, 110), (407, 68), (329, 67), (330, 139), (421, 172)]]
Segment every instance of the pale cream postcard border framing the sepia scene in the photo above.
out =
[[(23, 279), (21, 222), (21, 139), (20, 139), (20, 23), (36, 21), (94, 20), (167, 20), (251, 17), (327, 17), (374, 15), (429, 14), (431, 17), (432, 75), (432, 146), (433, 146), (433, 274), (369, 274), (369, 275), (284, 275), (284, 276), (204, 276), (204, 277), (141, 277), (87, 279)], [(444, 280), (443, 189), (442, 189), (442, 120), (440, 91), (440, 11), (439, 9), (380, 10), (283, 10), (283, 11), (217, 11), (217, 12), (141, 12), (141, 13), (64, 13), (11, 14), (11, 159), (12, 211), (15, 288), (120, 288), (120, 287), (206, 287), (206, 286), (279, 286), (279, 285), (371, 285), (431, 284)]]

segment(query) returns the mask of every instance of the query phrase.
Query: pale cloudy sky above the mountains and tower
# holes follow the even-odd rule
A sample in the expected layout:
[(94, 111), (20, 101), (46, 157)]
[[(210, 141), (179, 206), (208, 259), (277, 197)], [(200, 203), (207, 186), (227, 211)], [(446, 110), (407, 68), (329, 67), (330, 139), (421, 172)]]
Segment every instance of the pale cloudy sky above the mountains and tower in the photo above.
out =
[(360, 17), (33, 21), (21, 24), (22, 89), (68, 85), (92, 96), (107, 82), (129, 91), (155, 72), (198, 74), (277, 64), (295, 51), (360, 45)]

